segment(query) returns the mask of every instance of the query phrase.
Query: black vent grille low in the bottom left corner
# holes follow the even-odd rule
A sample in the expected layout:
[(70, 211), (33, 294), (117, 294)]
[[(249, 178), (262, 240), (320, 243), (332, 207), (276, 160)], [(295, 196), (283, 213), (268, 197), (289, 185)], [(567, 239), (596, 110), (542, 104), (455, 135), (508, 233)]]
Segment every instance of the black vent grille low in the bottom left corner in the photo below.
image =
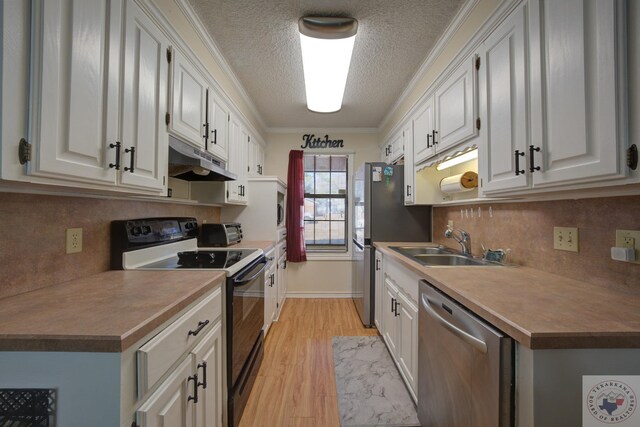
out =
[(55, 389), (0, 389), (0, 427), (55, 427)]

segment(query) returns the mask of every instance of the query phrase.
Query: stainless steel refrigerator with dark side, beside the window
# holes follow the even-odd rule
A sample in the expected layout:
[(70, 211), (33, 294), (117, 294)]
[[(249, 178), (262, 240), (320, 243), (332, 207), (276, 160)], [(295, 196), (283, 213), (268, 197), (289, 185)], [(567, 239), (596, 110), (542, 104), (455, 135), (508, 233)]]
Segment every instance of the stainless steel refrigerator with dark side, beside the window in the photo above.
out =
[(431, 206), (404, 205), (404, 166), (365, 163), (354, 177), (353, 302), (365, 326), (374, 325), (374, 242), (428, 242)]

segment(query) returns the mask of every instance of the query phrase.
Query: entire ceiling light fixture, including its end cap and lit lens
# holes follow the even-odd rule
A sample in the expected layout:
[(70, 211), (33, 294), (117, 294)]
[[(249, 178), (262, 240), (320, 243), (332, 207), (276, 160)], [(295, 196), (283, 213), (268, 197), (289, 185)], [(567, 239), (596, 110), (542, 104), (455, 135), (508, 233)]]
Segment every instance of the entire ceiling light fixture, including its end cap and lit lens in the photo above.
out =
[(333, 113), (342, 108), (358, 21), (307, 16), (298, 20), (307, 108)]

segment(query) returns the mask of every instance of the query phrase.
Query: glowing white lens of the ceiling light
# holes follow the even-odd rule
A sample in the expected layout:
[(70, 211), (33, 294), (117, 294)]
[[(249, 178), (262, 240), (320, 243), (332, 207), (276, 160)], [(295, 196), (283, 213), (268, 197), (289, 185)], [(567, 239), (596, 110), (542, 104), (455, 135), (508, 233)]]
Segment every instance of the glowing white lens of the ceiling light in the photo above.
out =
[[(330, 32), (331, 29), (327, 31)], [(333, 113), (342, 108), (356, 36), (318, 35), (321, 37), (300, 33), (307, 108), (318, 113)]]

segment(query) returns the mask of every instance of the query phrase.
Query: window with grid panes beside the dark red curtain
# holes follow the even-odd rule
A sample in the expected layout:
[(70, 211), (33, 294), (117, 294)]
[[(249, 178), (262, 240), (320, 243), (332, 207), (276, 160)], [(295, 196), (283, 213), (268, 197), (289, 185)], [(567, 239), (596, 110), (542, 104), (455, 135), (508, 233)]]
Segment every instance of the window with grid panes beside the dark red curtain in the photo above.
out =
[(304, 241), (307, 250), (347, 251), (349, 156), (304, 156)]

